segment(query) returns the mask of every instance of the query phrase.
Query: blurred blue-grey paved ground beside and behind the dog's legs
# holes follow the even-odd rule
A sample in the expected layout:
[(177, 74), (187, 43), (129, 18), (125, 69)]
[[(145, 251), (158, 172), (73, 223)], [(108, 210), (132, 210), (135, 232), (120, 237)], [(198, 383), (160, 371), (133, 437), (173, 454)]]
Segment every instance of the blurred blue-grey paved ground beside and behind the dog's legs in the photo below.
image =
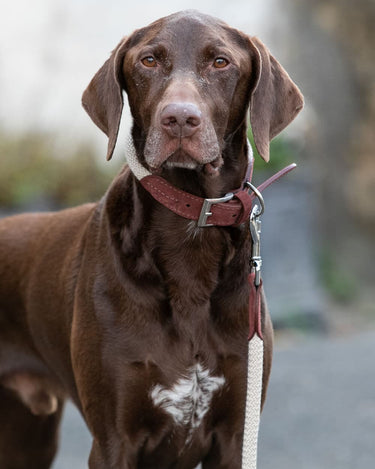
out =
[[(374, 357), (375, 330), (279, 341), (261, 423), (259, 469), (374, 467)], [(54, 469), (86, 469), (90, 444), (78, 413), (68, 406)]]

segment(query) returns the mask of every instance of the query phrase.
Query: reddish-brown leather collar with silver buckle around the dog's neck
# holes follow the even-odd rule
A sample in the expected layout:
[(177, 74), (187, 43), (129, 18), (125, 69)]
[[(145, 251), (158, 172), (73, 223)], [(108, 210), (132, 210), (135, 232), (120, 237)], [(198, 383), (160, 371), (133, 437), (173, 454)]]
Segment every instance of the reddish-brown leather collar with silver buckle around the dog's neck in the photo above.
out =
[[(280, 177), (292, 171), (293, 163), (263, 182), (257, 189), (261, 192)], [(218, 199), (204, 199), (174, 187), (160, 176), (150, 175), (140, 179), (142, 186), (159, 203), (172, 212), (198, 226), (237, 226), (249, 219), (255, 193), (245, 182), (244, 187)]]

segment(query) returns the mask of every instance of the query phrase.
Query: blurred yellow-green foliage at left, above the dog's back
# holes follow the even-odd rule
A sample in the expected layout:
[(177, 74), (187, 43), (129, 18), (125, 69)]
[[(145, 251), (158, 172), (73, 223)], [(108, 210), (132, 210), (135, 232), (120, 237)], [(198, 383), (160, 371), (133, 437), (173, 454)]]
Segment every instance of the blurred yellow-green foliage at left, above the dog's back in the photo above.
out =
[(100, 166), (94, 149), (82, 143), (61, 153), (52, 135), (0, 134), (0, 206), (60, 208), (100, 198), (113, 175)]

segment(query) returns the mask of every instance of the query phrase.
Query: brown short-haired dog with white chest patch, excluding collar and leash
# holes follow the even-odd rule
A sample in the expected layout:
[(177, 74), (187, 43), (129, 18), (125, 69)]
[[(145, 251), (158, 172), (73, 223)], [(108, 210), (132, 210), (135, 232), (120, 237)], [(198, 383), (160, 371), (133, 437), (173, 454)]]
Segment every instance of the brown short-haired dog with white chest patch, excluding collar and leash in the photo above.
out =
[[(249, 106), (265, 159), (302, 107), (258, 39), (197, 12), (123, 39), (91, 81), (83, 105), (108, 158), (122, 90), (140, 164), (202, 197), (241, 185)], [(128, 168), (97, 204), (1, 220), (0, 467), (50, 467), (68, 397), (91, 469), (239, 468), (250, 247), (247, 224), (199, 228)]]

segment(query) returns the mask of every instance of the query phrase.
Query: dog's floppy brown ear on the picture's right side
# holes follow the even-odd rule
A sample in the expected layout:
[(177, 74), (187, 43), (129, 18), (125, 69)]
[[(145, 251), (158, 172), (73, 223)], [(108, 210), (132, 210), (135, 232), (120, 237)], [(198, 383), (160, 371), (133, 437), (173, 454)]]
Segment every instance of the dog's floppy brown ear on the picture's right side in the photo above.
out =
[(257, 83), (250, 99), (250, 123), (260, 156), (269, 161), (269, 144), (296, 117), (303, 96), (279, 62), (257, 38), (250, 38)]

